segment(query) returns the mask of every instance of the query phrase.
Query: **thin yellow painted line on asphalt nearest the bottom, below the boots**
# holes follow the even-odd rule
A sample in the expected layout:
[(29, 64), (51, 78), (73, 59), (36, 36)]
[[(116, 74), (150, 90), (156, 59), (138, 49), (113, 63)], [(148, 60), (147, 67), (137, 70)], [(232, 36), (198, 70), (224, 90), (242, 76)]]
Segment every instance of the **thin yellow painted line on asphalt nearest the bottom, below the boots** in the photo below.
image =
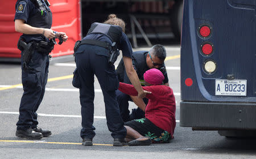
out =
[[(67, 144), (67, 145), (82, 145), (82, 143), (61, 143), (61, 142), (46, 142), (46, 141), (24, 141), (24, 140), (0, 140), (2, 143), (42, 143), (42, 144)], [(113, 146), (111, 144), (93, 144), (101, 146)]]

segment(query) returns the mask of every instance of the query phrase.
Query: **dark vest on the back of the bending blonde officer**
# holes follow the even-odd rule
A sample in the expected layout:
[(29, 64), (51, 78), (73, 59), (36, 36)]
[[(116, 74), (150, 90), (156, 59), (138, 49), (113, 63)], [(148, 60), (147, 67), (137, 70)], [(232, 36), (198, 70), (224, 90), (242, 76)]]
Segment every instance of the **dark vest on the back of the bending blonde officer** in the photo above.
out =
[(110, 25), (104, 23), (93, 23), (87, 35), (91, 33), (100, 33), (102, 35), (108, 36), (112, 42), (119, 42), (122, 36), (122, 28), (118, 25)]

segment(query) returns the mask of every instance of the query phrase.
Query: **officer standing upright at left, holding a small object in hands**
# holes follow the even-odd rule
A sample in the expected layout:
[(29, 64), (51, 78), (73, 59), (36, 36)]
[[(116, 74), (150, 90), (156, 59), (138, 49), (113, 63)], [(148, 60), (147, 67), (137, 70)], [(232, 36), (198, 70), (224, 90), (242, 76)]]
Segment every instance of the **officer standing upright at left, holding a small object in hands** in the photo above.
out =
[(53, 32), (52, 12), (47, 0), (18, 0), (15, 5), (15, 31), (23, 33), (18, 41), (22, 50), (23, 96), (19, 106), (16, 136), (24, 139), (41, 139), (51, 131), (37, 127), (36, 110), (43, 100), (47, 83), (49, 57), (53, 37), (66, 41), (63, 32)]

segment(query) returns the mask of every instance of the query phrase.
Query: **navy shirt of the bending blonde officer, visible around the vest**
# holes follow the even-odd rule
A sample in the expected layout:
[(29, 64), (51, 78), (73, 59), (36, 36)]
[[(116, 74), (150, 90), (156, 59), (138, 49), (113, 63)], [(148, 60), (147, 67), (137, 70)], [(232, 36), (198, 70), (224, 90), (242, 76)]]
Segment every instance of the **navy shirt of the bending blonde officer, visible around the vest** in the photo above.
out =
[[(100, 33), (91, 33), (86, 37), (84, 37), (84, 40), (85, 39), (105, 41), (105, 42), (108, 42), (109, 44), (112, 44), (112, 41), (109, 39), (109, 37)], [(128, 37), (123, 32), (122, 32), (122, 36), (120, 37), (120, 41), (117, 41), (117, 48), (119, 50), (122, 50), (123, 56), (131, 58), (131, 54), (133, 54), (133, 49), (131, 48), (131, 44)]]

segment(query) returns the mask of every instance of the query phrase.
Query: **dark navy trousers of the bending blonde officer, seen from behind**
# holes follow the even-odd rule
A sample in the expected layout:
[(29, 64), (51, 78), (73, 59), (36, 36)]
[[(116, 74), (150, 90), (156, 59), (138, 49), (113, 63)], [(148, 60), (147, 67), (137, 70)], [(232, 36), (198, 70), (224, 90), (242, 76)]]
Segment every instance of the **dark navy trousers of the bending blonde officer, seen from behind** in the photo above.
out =
[[(108, 63), (108, 50), (95, 45), (81, 45), (75, 55), (80, 82), (80, 104), (82, 115), (82, 138), (93, 138), (94, 74), (100, 83), (104, 96), (105, 113), (109, 131), (113, 138), (126, 136), (126, 128), (119, 113), (115, 90), (119, 83), (114, 65)], [(100, 109), (100, 108), (96, 108)]]

